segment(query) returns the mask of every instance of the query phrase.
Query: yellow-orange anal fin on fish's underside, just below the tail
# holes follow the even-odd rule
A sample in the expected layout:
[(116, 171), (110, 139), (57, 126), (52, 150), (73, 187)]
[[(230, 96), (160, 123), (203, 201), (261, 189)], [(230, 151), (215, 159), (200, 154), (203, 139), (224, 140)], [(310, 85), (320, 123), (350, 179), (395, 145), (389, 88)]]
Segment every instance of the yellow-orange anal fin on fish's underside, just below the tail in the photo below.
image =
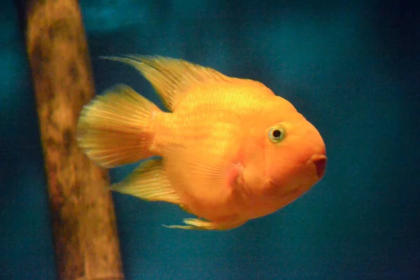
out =
[(162, 159), (160, 158), (151, 158), (141, 162), (139, 167), (126, 179), (113, 184), (111, 190), (133, 195), (142, 200), (181, 203), (167, 174), (162, 169)]

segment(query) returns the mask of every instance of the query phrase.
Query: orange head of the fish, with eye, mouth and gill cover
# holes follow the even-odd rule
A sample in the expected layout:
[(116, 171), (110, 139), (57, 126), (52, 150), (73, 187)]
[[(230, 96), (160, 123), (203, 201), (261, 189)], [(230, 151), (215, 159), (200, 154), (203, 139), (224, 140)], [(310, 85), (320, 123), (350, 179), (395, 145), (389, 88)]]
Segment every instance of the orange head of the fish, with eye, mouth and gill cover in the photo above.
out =
[[(259, 214), (265, 216), (300, 197), (321, 180), (327, 162), (325, 144), (318, 130), (286, 99), (276, 97), (272, 109), (258, 118), (258, 129), (244, 162), (244, 181), (258, 197)], [(272, 105), (273, 105), (272, 104)], [(258, 164), (253, 164), (258, 155)], [(258, 178), (256, 180), (255, 178)], [(266, 207), (266, 209), (265, 209)]]

